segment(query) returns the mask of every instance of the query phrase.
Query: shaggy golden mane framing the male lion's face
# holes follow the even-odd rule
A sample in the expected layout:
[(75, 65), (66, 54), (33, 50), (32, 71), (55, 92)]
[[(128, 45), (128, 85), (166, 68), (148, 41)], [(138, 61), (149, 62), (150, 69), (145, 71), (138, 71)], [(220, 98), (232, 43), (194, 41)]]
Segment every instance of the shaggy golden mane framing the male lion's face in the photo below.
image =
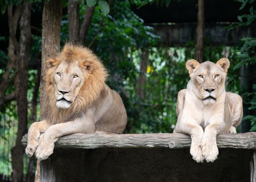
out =
[[(71, 64), (79, 61), (79, 67), (83, 70), (86, 78), (84, 85), (80, 88), (79, 93), (71, 107), (60, 109), (56, 107), (56, 98), (54, 95), (55, 84), (51, 80), (51, 75), (62, 61)], [(106, 69), (92, 53), (91, 50), (83, 46), (66, 44), (63, 50), (55, 58), (46, 60), (46, 84), (45, 98), (42, 105), (42, 118), (51, 124), (71, 121), (82, 115), (94, 102), (104, 86), (108, 76)]]

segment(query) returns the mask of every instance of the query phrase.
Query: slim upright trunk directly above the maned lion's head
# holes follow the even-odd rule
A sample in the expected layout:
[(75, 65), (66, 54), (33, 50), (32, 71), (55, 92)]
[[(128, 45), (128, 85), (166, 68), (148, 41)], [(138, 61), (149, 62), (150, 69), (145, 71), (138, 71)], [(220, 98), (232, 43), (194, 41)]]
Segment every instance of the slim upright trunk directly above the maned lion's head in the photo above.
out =
[(68, 42), (79, 43), (79, 1), (68, 0)]

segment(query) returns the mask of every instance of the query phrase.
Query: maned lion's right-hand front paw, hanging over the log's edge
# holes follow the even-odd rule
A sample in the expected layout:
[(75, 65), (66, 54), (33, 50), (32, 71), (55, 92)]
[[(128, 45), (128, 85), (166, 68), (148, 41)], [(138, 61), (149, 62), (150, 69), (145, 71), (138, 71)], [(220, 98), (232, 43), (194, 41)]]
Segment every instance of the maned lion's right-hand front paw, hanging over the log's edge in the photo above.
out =
[(36, 158), (39, 160), (47, 159), (52, 153), (54, 148), (54, 142), (45, 141), (44, 135), (41, 135), (39, 146), (36, 151)]

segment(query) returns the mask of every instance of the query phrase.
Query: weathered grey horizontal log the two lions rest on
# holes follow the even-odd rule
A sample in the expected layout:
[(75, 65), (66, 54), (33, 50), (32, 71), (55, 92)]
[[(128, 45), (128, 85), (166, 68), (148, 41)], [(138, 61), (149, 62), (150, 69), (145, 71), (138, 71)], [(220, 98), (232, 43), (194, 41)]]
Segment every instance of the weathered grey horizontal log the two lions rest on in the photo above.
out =
[[(27, 145), (27, 135), (22, 138)], [(184, 134), (73, 134), (61, 137), (55, 142), (55, 148), (189, 148), (191, 138)], [(219, 134), (218, 148), (256, 149), (256, 132), (240, 134)]]

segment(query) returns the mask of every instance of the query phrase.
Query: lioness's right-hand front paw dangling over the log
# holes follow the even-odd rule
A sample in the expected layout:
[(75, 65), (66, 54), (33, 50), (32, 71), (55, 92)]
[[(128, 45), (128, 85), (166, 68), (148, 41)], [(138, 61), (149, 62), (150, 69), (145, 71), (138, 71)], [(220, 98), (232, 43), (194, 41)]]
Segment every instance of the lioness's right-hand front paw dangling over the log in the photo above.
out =
[(213, 162), (217, 159), (217, 155), (219, 154), (218, 147), (216, 142), (206, 141), (203, 139), (202, 142), (202, 153), (203, 157), (207, 162)]

